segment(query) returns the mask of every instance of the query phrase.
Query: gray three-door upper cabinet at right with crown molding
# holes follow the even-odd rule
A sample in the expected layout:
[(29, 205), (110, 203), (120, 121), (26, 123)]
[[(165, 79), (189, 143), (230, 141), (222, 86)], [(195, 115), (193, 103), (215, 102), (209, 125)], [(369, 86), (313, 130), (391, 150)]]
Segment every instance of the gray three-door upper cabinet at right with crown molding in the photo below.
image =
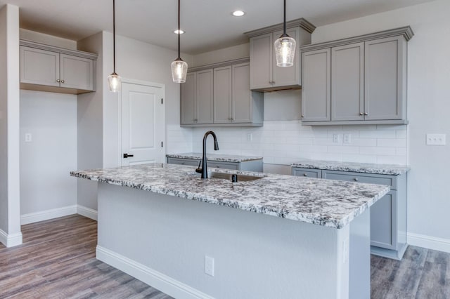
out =
[(412, 36), (411, 27), (402, 27), (303, 46), (302, 122), (407, 124), (406, 43)]

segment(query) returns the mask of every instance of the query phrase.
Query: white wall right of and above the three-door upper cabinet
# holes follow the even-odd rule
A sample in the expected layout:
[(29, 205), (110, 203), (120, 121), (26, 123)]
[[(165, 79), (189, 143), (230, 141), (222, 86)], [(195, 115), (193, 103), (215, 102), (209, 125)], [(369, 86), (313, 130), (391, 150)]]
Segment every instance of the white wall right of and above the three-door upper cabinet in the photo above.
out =
[(409, 244), (450, 251), (450, 147), (425, 145), (426, 133), (450, 136), (450, 1), (439, 0), (319, 27), (313, 41), (328, 41), (411, 25), (408, 44)]

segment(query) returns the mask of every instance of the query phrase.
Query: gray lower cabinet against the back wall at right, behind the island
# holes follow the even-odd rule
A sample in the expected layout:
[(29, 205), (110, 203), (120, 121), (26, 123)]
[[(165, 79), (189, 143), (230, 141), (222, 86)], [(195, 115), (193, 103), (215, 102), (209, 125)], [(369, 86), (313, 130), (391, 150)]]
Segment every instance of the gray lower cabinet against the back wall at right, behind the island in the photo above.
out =
[(293, 175), (389, 185), (371, 206), (371, 253), (401, 260), (406, 251), (406, 175), (378, 175), (293, 167)]

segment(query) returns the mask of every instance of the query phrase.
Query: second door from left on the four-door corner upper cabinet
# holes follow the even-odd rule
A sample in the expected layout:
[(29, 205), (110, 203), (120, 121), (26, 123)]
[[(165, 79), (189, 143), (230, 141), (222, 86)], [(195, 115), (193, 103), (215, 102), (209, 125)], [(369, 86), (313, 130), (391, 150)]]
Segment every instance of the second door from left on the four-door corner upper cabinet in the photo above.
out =
[(195, 124), (212, 124), (213, 115), (213, 75), (212, 69), (197, 72), (196, 86), (196, 110), (197, 121)]

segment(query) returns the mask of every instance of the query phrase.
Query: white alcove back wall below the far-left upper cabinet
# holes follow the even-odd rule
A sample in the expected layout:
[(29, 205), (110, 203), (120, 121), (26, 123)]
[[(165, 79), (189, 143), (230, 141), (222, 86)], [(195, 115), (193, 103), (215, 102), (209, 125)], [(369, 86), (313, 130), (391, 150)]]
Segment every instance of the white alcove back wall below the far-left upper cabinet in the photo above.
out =
[(69, 175), (75, 169), (77, 96), (20, 91), (22, 215), (77, 204), (77, 181)]

